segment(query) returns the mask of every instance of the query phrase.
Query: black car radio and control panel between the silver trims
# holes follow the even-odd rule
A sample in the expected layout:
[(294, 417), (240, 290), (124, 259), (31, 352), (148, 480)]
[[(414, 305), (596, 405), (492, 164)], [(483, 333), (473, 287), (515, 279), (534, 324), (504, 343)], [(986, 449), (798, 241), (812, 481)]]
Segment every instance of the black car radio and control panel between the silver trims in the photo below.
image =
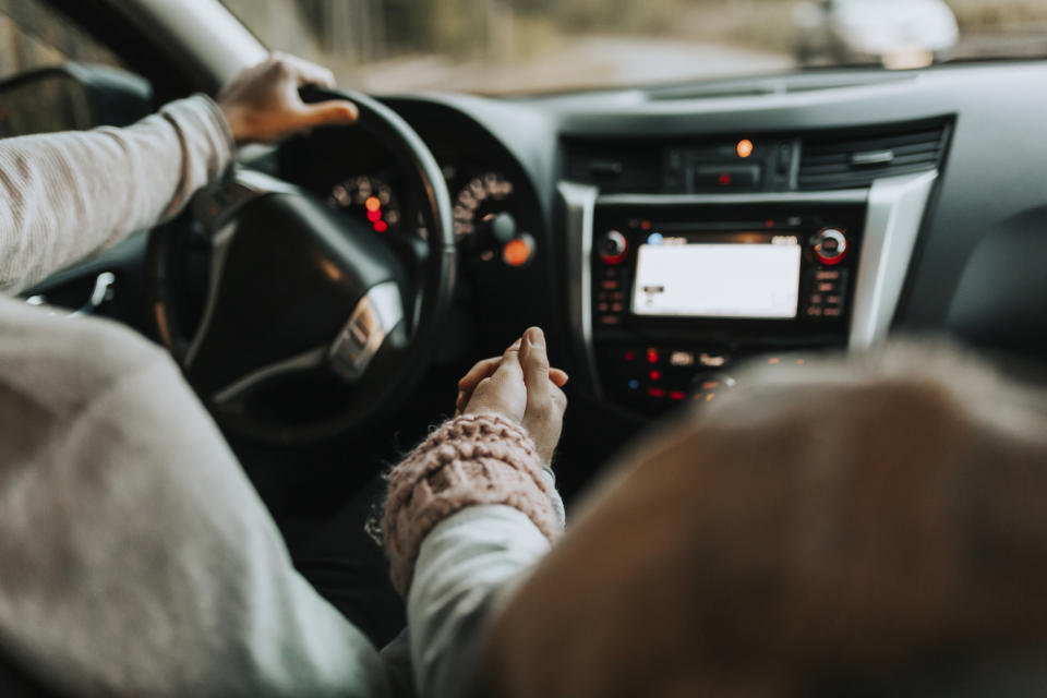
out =
[(741, 361), (846, 346), (864, 214), (819, 203), (597, 206), (589, 302), (603, 392), (645, 411), (708, 401)]

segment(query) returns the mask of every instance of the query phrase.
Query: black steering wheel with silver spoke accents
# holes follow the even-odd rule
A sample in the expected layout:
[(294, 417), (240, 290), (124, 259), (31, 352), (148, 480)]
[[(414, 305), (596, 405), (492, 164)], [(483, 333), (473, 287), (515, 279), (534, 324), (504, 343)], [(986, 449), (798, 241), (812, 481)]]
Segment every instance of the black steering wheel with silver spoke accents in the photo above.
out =
[(392, 155), (424, 243), (398, 256), (316, 196), (237, 168), (154, 229), (147, 254), (157, 334), (190, 384), (224, 426), (277, 443), (359, 433), (395, 409), (428, 366), (457, 263), (447, 185), (407, 122), (365, 95), (302, 96), (357, 105), (349, 128)]

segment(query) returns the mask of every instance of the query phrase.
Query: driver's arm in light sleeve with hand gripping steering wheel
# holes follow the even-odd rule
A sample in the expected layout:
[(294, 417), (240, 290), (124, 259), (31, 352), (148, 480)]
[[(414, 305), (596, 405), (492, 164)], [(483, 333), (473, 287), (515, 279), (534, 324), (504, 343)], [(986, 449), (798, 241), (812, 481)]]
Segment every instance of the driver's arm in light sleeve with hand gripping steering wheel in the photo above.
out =
[(177, 214), (234, 145), (349, 123), (346, 101), (304, 105), (298, 87), (329, 71), (273, 56), (218, 96), (172, 103), (127, 129), (0, 141), (0, 292), (16, 292)]

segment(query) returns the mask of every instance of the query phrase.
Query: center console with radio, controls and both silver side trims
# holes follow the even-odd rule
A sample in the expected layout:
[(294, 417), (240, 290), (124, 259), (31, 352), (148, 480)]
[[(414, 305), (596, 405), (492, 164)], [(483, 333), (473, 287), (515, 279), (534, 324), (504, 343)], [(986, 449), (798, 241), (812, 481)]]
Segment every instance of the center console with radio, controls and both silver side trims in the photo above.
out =
[(746, 362), (809, 365), (882, 339), (936, 176), (687, 195), (562, 182), (582, 380), (657, 413), (715, 400)]

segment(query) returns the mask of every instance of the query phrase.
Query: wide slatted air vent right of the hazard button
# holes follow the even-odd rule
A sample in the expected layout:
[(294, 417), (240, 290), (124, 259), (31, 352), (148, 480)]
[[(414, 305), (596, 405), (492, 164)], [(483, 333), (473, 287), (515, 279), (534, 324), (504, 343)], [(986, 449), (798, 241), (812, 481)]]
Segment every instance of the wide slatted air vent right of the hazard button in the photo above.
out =
[(868, 186), (881, 177), (931, 170), (941, 164), (944, 144), (944, 124), (806, 139), (799, 163), (799, 188)]

